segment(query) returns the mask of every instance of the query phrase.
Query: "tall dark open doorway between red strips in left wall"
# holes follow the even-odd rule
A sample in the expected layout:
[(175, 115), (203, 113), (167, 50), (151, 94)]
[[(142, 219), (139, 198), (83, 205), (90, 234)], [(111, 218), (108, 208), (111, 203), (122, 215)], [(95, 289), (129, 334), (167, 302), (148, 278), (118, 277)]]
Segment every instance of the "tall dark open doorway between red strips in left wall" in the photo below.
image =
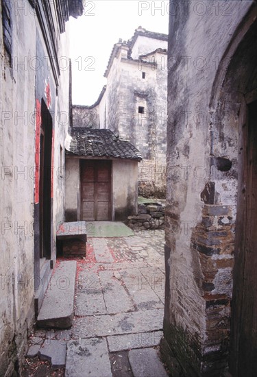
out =
[(44, 101), (42, 101), (41, 109), (39, 185), (40, 258), (51, 259), (51, 158), (53, 121)]

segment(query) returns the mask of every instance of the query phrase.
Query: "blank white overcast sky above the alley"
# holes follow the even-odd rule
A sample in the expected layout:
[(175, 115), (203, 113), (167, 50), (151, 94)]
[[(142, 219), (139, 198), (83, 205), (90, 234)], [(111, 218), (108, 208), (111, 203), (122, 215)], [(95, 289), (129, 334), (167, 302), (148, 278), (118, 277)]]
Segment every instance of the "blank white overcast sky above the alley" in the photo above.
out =
[(169, 1), (85, 1), (83, 16), (70, 20), (73, 104), (92, 105), (114, 43), (132, 38), (138, 26), (168, 34)]

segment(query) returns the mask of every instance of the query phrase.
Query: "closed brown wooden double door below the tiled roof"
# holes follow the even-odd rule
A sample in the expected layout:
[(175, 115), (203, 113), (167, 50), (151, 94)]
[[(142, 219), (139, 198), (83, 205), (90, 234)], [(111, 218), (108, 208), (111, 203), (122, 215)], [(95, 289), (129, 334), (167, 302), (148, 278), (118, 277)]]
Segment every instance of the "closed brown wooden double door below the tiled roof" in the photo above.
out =
[(111, 219), (111, 161), (81, 160), (81, 219)]

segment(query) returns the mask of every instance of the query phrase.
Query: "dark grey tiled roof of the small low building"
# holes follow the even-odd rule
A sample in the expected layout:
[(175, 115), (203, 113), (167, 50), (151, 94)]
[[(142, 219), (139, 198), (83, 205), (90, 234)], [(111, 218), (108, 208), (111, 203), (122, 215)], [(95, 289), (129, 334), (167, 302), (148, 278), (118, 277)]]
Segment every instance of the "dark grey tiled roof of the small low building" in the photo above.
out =
[(140, 151), (134, 145), (115, 136), (111, 130), (91, 128), (71, 130), (69, 146), (66, 145), (66, 154), (142, 160)]

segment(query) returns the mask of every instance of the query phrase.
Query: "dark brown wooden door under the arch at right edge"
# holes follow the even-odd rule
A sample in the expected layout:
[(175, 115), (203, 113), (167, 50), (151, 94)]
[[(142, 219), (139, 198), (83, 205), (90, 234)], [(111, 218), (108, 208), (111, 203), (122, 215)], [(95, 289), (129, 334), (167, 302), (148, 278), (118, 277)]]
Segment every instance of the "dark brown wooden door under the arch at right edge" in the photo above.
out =
[(247, 106), (232, 300), (233, 376), (257, 375), (257, 101)]

